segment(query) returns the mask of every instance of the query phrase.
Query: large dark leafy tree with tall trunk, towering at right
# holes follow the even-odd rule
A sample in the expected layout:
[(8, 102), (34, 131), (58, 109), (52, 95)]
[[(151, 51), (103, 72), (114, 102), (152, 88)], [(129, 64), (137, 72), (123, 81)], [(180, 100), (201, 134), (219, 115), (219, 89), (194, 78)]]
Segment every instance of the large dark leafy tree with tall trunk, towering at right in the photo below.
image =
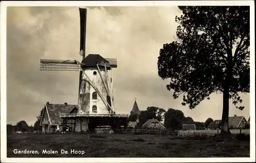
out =
[(249, 6), (179, 7), (177, 41), (164, 44), (158, 74), (170, 78), (168, 90), (182, 105), (195, 108), (209, 95), (223, 93), (221, 133), (228, 128), (229, 99), (237, 106), (239, 92), (250, 91)]

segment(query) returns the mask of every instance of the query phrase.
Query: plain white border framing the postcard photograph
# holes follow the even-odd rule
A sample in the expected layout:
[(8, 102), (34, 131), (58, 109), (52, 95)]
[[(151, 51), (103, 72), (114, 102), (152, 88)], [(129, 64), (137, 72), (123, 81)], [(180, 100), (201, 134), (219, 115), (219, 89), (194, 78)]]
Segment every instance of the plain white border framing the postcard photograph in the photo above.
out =
[(254, 162), (255, 56), (250, 55), (250, 157), (247, 158), (7, 158), (6, 16), (8, 6), (250, 6), (250, 52), (255, 54), (254, 1), (12, 1), (1, 2), (1, 162)]

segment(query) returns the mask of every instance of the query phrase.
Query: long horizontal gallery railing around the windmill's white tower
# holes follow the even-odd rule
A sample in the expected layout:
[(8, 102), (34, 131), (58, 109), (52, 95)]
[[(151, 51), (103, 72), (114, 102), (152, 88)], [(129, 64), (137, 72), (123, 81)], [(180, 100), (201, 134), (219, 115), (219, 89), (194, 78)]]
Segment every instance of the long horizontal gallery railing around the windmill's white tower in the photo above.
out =
[(78, 114), (78, 113), (67, 113), (59, 114), (60, 118), (65, 118), (65, 117), (129, 117), (127, 114)]

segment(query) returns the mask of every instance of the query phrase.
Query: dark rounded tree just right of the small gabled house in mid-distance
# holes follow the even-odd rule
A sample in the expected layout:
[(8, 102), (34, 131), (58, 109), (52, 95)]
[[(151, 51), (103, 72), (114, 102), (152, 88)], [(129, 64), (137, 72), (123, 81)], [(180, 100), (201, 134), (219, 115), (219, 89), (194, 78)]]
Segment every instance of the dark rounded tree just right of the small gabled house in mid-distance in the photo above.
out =
[(170, 129), (181, 129), (183, 118), (183, 112), (169, 108), (164, 115), (164, 125), (166, 128)]

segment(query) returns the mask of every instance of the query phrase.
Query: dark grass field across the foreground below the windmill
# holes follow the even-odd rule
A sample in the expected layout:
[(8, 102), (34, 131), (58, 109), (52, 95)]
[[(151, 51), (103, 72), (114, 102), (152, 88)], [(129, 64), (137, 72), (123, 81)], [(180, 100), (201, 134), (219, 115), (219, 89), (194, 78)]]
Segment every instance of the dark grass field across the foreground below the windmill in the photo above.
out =
[[(33, 150), (38, 154), (15, 154)], [(61, 154), (61, 149), (67, 154)], [(43, 154), (43, 150), (57, 154)], [(84, 151), (71, 154), (71, 150)], [(7, 157), (249, 157), (250, 142), (133, 134), (8, 134)]]

